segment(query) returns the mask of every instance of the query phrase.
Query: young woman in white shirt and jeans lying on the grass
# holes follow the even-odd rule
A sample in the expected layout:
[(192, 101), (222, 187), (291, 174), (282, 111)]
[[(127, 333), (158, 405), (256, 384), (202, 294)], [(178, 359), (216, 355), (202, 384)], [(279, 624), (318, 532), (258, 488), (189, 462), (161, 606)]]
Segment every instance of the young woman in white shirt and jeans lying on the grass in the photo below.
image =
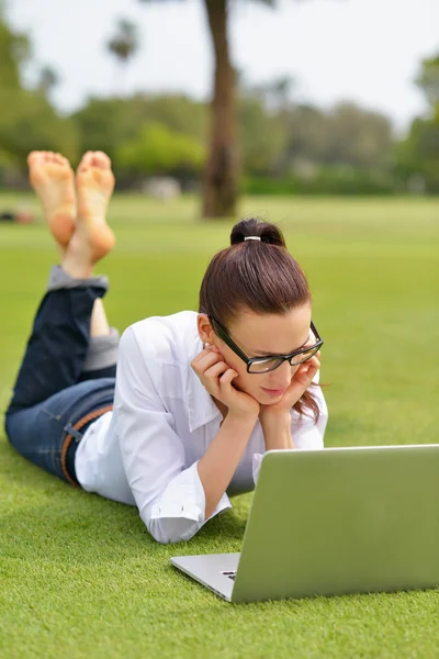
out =
[(323, 342), (306, 279), (275, 226), (233, 228), (204, 275), (199, 313), (145, 319), (120, 340), (102, 304), (108, 280), (93, 276), (114, 245), (109, 158), (86, 154), (76, 189), (63, 156), (36, 152), (29, 164), (60, 266), (7, 412), (20, 454), (136, 505), (156, 540), (176, 543), (255, 488), (266, 450), (323, 447)]

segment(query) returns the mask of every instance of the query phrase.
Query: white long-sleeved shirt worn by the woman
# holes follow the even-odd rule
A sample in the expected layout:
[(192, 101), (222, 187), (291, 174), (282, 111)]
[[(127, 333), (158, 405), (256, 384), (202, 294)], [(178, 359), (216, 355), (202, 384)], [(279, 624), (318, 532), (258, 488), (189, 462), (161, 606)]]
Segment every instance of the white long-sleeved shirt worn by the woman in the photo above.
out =
[[(76, 454), (81, 487), (136, 505), (159, 543), (188, 540), (207, 521), (198, 461), (218, 433), (222, 415), (191, 368), (202, 350), (196, 315), (183, 311), (149, 317), (124, 332), (114, 409), (88, 428)], [(322, 390), (314, 393), (320, 409), (317, 424), (292, 411), (296, 448), (323, 448), (327, 406)], [(232, 507), (229, 495), (255, 488), (263, 453), (258, 421), (212, 516)]]

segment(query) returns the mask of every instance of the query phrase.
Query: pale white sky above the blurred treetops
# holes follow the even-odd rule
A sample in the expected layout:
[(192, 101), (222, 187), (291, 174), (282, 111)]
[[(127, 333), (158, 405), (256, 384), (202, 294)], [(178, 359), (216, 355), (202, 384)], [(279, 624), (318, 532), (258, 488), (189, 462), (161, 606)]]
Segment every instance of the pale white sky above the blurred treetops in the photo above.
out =
[[(60, 77), (63, 111), (89, 96), (133, 91), (209, 98), (213, 58), (202, 0), (7, 0), (14, 29), (29, 32), (38, 66)], [(134, 21), (142, 47), (123, 81), (105, 49), (119, 18)], [(297, 102), (341, 100), (387, 114), (404, 130), (425, 112), (413, 80), (439, 51), (438, 0), (279, 0), (275, 10), (232, 0), (230, 47), (249, 83), (295, 80)], [(35, 69), (29, 69), (32, 79)]]

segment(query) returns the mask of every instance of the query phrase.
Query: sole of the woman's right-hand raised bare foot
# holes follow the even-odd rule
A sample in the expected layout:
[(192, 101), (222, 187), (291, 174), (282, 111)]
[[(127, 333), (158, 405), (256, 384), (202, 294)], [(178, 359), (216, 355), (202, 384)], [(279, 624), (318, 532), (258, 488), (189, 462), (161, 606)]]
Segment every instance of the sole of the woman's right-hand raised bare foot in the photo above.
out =
[(106, 224), (106, 210), (114, 189), (111, 160), (102, 152), (88, 152), (76, 174), (78, 198), (74, 239), (89, 250), (94, 265), (114, 247), (114, 234)]

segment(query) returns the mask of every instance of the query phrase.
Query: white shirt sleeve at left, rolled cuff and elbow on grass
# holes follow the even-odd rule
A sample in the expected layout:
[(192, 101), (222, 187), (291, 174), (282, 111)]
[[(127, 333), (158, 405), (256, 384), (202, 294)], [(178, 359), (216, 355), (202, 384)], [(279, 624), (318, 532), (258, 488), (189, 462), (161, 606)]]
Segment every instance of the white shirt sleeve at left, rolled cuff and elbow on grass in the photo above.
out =
[[(122, 460), (140, 518), (159, 543), (190, 539), (207, 521), (198, 462), (185, 468), (182, 440), (132, 327), (121, 338), (114, 413)], [(211, 517), (228, 507), (224, 494)]]

